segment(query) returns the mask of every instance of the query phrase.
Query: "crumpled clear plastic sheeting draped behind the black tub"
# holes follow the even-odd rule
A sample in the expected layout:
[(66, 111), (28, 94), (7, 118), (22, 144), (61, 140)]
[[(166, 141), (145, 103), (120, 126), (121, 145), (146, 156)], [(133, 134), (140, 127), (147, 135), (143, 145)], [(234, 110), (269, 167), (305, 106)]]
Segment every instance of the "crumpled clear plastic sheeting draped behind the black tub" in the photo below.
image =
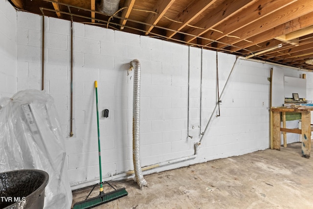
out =
[(40, 169), (49, 174), (45, 209), (70, 209), (66, 149), (53, 98), (25, 90), (0, 98), (0, 172)]

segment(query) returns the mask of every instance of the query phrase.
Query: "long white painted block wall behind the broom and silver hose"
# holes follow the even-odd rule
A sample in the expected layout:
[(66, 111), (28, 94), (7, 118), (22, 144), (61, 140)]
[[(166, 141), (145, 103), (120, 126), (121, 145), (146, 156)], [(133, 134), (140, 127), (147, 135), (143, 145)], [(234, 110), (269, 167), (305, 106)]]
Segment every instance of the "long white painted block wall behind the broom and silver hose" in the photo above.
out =
[[(40, 89), (42, 17), (17, 13), (18, 90)], [(194, 155), (194, 144), (213, 114), (197, 158), (145, 174), (269, 147), (271, 65), (238, 60), (224, 89), (236, 57), (218, 53), (223, 94), (221, 116), (216, 117), (216, 52), (82, 23), (73, 23), (73, 35), (74, 136), (69, 137), (70, 22), (45, 17), (45, 91), (59, 112), (72, 188), (99, 179), (95, 80), (99, 109), (110, 111), (108, 118), (100, 118), (103, 177), (111, 180), (133, 169), (133, 73), (128, 71), (133, 59), (140, 61), (142, 71), (142, 166)], [(312, 73), (307, 79), (312, 98)]]

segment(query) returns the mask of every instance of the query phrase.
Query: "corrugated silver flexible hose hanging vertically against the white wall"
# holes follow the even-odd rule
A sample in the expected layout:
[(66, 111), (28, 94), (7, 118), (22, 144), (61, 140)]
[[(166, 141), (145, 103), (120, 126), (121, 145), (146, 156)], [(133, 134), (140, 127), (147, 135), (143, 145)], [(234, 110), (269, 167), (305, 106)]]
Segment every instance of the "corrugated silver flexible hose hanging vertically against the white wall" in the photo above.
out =
[(134, 69), (134, 96), (133, 96), (133, 163), (135, 172), (135, 182), (140, 186), (147, 185), (143, 178), (140, 162), (140, 63), (139, 60), (131, 62)]

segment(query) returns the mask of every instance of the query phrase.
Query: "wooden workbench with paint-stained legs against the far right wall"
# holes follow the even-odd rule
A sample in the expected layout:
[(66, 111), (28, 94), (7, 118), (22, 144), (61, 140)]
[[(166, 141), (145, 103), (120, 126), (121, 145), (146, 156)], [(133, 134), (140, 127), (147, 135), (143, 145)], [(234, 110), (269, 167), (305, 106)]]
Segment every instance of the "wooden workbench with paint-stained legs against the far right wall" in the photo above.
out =
[[(302, 141), (302, 157), (310, 158), (311, 156), (311, 111), (312, 106), (295, 106), (295, 107), (272, 107), (272, 140), (274, 149), (280, 150), (281, 135), (280, 132), (289, 132), (301, 134)], [(293, 112), (301, 113), (301, 129), (282, 128), (280, 113)]]

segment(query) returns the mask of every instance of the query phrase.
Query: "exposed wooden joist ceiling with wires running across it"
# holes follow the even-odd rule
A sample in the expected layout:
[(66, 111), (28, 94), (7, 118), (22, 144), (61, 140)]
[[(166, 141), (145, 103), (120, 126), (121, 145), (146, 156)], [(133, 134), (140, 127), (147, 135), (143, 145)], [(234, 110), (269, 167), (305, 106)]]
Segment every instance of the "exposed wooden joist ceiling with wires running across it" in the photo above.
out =
[(313, 70), (313, 0), (11, 0), (18, 9)]

